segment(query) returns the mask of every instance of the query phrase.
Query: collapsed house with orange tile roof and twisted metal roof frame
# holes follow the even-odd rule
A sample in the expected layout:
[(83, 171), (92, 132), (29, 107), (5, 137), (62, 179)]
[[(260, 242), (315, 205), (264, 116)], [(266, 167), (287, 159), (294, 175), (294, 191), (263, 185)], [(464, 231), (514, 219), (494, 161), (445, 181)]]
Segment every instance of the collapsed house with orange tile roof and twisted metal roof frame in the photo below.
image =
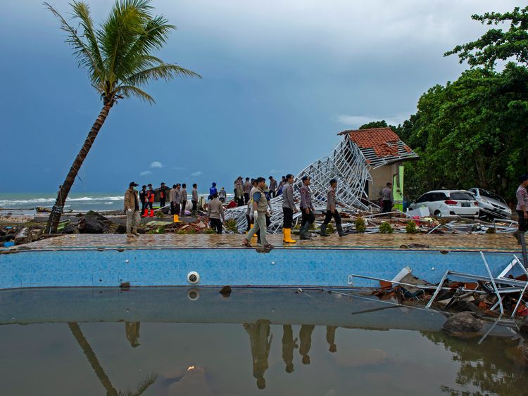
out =
[[(345, 210), (371, 210), (377, 207), (386, 183), (394, 184), (394, 205), (403, 209), (403, 162), (417, 160), (418, 155), (403, 143), (390, 128), (356, 129), (338, 134), (341, 141), (329, 155), (312, 162), (296, 176), (294, 196), (298, 200), (301, 177), (311, 177), (315, 210), (325, 210), (330, 179), (337, 179), (339, 202)], [(273, 213), (268, 231), (282, 229), (282, 196), (271, 200)], [(246, 229), (246, 207), (226, 211), (227, 219), (237, 219), (239, 231)], [(299, 214), (297, 214), (298, 216)]]

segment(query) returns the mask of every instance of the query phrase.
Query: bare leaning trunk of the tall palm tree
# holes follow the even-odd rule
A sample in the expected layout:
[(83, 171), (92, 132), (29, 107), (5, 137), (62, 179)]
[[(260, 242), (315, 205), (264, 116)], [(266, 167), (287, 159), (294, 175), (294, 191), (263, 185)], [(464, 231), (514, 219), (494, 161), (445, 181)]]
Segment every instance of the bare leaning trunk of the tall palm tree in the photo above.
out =
[(112, 102), (105, 103), (105, 105), (101, 109), (99, 117), (97, 117), (94, 124), (92, 125), (92, 129), (90, 129), (90, 132), (86, 140), (84, 141), (84, 145), (80, 149), (79, 153), (77, 154), (77, 157), (75, 158), (75, 161), (73, 161), (73, 164), (70, 167), (70, 172), (68, 172), (68, 176), (66, 176), (64, 183), (59, 187), (57, 199), (55, 200), (55, 205), (51, 209), (51, 214), (49, 215), (48, 222), (46, 224), (46, 229), (44, 229), (45, 234), (55, 234), (57, 232), (58, 222), (61, 220), (61, 215), (63, 213), (66, 197), (68, 197), (70, 189), (73, 186), (73, 182), (75, 181), (75, 177), (77, 177), (77, 173), (79, 172), (80, 167), (82, 166), (82, 162), (84, 162), (84, 159), (88, 155), (90, 148), (92, 148), (92, 144), (94, 144), (95, 138), (99, 133), (99, 129), (101, 129), (103, 123), (106, 120), (106, 117), (108, 117), (108, 112), (110, 111), (112, 105)]

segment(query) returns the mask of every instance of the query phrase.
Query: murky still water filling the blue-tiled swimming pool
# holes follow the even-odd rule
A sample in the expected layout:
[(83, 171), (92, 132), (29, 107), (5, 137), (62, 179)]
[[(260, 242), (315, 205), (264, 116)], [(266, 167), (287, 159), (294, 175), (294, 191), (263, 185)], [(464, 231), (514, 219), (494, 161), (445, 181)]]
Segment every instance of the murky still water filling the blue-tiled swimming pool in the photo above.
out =
[[(190, 291), (0, 293), (1, 394), (523, 395), (528, 389), (522, 338), (513, 340), (506, 329), (477, 345), (482, 335), (438, 331), (439, 314), (361, 295), (234, 289), (226, 298), (213, 289)], [(79, 293), (92, 302), (77, 303)]]

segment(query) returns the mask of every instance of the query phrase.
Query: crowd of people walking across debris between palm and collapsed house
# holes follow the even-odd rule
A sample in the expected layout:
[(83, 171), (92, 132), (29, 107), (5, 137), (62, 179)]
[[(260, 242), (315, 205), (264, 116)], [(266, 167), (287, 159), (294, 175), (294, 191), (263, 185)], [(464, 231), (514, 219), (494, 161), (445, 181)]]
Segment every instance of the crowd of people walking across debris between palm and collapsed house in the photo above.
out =
[[(291, 226), (293, 225), (294, 214), (301, 211), (301, 230), (300, 238), (303, 241), (310, 240), (309, 229), (315, 222), (315, 208), (312, 202), (312, 191), (310, 190), (311, 178), (309, 176), (303, 176), (301, 178), (301, 202), (299, 208), (297, 208), (294, 201), (294, 175), (287, 174), (282, 177), (280, 183), (277, 183), (273, 177), (269, 177), (270, 186), (266, 184), (264, 177), (258, 177), (256, 179), (249, 179), (246, 177), (244, 182), (242, 177), (238, 177), (234, 181), (234, 200), (233, 203), (238, 205), (247, 205), (246, 219), (247, 229), (246, 236), (243, 240), (243, 245), (251, 246), (251, 238), (258, 236), (257, 242), (262, 244), (265, 248), (273, 248), (268, 243), (266, 238), (266, 229), (270, 224), (270, 218), (272, 215), (272, 205), (270, 200), (278, 195), (282, 194), (282, 214), (283, 214), (283, 226), (282, 226), (282, 241), (284, 243), (296, 243), (291, 238)], [(184, 215), (187, 207), (188, 193), (186, 184), (174, 184), (172, 189), (168, 189), (165, 183), (161, 183), (159, 189), (154, 190), (152, 184), (142, 186), (142, 190), (136, 191), (136, 184), (134, 181), (130, 183), (129, 189), (125, 192), (125, 212), (127, 214), (127, 236), (133, 237), (139, 235), (137, 233), (137, 225), (140, 222), (140, 213), (142, 217), (153, 217), (153, 203), (158, 193), (158, 199), (160, 207), (163, 209), (166, 206), (170, 206), (170, 212), (175, 218), (175, 222), (179, 221), (179, 216)], [(193, 184), (191, 191), (191, 203), (192, 203), (192, 215), (196, 215), (196, 210), (199, 202), (199, 193), (197, 184)], [(336, 197), (337, 191), (337, 179), (329, 181), (327, 189), (327, 207), (325, 220), (320, 228), (321, 236), (329, 236), (327, 234), (327, 226), (329, 222), (334, 219), (336, 223), (336, 229), (339, 236), (345, 236), (346, 232), (343, 231), (341, 226), (341, 216), (337, 210), (339, 205)], [(166, 205), (167, 198), (169, 205)], [(224, 203), (227, 198), (227, 193), (222, 187), (220, 191), (216, 188), (216, 184), (213, 183), (209, 189), (209, 202), (207, 205), (207, 217), (209, 224), (217, 234), (222, 234), (222, 223), (225, 222), (225, 210)], [(141, 209), (139, 204), (141, 203)]]

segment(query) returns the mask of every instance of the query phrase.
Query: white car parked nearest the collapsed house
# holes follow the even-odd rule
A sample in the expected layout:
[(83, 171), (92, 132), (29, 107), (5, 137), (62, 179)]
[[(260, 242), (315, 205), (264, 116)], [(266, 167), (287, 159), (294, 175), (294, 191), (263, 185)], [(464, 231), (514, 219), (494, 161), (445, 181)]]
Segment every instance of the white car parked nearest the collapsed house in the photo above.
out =
[(437, 190), (425, 193), (409, 205), (409, 210), (427, 206), (436, 217), (460, 216), (476, 219), (479, 204), (473, 194), (465, 190)]

